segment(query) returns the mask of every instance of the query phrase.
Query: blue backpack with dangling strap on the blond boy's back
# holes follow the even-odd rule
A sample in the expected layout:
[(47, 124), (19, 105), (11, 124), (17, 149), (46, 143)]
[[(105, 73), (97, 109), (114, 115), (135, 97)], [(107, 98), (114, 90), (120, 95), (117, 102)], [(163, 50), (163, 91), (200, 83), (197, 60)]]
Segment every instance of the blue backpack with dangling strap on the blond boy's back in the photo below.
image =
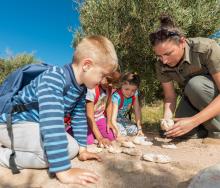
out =
[[(12, 130), (12, 113), (14, 112), (24, 112), (28, 109), (38, 109), (38, 103), (33, 102), (29, 104), (15, 105), (12, 104), (13, 96), (17, 95), (18, 92), (27, 84), (31, 82), (34, 78), (39, 76), (44, 71), (51, 68), (51, 65), (48, 64), (29, 64), (22, 68), (19, 68), (8, 75), (3, 84), (0, 86), (0, 115), (7, 113), (7, 130), (8, 135), (11, 139), (11, 150), (12, 153), (9, 158), (9, 166), (13, 174), (18, 174), (18, 170), (15, 163), (15, 150), (14, 150), (14, 137)], [(67, 92), (69, 87), (72, 84), (71, 81), (71, 66), (64, 65), (64, 72), (66, 74), (66, 86), (64, 88), (64, 93)]]

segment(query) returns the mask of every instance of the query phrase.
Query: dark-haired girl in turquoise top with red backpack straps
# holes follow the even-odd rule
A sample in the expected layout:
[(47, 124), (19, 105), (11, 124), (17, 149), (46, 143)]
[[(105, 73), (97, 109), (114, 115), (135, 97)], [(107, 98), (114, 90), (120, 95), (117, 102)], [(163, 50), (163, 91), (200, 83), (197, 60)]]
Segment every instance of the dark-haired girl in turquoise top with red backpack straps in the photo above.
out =
[[(112, 124), (118, 129), (118, 136), (143, 135), (141, 127), (141, 109), (138, 100), (140, 78), (136, 73), (125, 73), (121, 79), (121, 88), (112, 95)], [(136, 124), (127, 118), (134, 107)]]

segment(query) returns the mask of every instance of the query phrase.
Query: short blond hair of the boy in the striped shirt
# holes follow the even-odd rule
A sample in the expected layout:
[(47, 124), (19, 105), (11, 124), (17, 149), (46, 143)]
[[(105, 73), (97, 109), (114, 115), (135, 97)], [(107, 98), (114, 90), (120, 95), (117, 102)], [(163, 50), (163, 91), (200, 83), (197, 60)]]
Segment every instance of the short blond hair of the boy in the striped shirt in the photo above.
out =
[(118, 58), (112, 42), (104, 36), (92, 35), (83, 38), (76, 47), (73, 61), (81, 62), (91, 58), (101, 66), (111, 66), (115, 71), (118, 68)]

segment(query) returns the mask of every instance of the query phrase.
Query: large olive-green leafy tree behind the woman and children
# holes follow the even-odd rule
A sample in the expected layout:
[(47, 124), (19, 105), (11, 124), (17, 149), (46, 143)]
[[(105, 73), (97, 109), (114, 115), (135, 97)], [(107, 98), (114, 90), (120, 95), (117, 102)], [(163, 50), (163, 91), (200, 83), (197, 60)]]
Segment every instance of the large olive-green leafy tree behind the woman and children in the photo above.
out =
[(142, 78), (144, 102), (161, 97), (155, 77), (156, 61), (148, 35), (158, 28), (161, 13), (173, 17), (188, 37), (208, 36), (220, 26), (219, 0), (87, 0), (78, 5), (81, 26), (74, 32), (75, 46), (85, 35), (108, 37), (116, 47), (121, 70)]

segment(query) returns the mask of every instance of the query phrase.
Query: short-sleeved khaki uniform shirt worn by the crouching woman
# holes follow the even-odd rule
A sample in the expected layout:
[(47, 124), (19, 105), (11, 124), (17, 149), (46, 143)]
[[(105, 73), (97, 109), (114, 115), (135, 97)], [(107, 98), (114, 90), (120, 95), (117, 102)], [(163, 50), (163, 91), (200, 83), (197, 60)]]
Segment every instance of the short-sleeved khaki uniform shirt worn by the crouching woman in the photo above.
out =
[(184, 57), (175, 67), (156, 63), (157, 78), (162, 83), (175, 80), (185, 85), (193, 76), (217, 72), (220, 72), (220, 46), (208, 38), (187, 39)]

